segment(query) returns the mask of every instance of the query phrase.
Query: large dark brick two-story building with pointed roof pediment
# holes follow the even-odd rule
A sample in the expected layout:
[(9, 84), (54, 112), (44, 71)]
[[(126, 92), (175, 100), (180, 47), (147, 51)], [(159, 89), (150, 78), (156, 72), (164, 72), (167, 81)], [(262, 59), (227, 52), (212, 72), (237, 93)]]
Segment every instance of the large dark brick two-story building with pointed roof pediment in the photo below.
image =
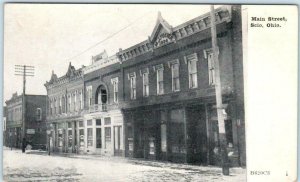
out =
[[(241, 9), (215, 15), (229, 157), (245, 165)], [(147, 40), (118, 52), (126, 156), (220, 161), (210, 27), (209, 13), (176, 27), (159, 14)]]

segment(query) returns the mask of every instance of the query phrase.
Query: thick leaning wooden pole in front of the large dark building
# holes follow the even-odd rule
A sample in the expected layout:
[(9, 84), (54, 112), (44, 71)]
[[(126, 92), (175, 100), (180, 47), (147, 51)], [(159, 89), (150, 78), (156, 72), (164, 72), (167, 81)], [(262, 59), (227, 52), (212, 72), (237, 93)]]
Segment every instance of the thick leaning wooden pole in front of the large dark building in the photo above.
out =
[(216, 105), (218, 114), (218, 126), (219, 126), (219, 142), (220, 151), (222, 157), (222, 172), (223, 175), (229, 175), (229, 164), (228, 164), (228, 154), (227, 154), (227, 141), (225, 133), (225, 122), (223, 116), (223, 103), (222, 103), (222, 87), (220, 78), (220, 65), (219, 65), (219, 48), (217, 44), (217, 31), (216, 31), (216, 19), (214, 5), (210, 7), (210, 17), (211, 17), (211, 38), (212, 38), (212, 51), (215, 69), (215, 90), (216, 90)]

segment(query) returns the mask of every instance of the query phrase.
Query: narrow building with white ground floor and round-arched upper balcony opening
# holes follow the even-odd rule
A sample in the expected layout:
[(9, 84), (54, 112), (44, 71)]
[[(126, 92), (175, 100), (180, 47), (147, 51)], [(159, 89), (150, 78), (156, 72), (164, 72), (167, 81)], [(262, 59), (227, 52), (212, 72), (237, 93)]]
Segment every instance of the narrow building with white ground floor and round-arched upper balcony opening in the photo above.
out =
[(85, 115), (82, 132), (86, 133), (88, 154), (124, 155), (123, 115), (119, 108), (123, 95), (120, 62), (116, 55), (102, 52), (85, 67)]

